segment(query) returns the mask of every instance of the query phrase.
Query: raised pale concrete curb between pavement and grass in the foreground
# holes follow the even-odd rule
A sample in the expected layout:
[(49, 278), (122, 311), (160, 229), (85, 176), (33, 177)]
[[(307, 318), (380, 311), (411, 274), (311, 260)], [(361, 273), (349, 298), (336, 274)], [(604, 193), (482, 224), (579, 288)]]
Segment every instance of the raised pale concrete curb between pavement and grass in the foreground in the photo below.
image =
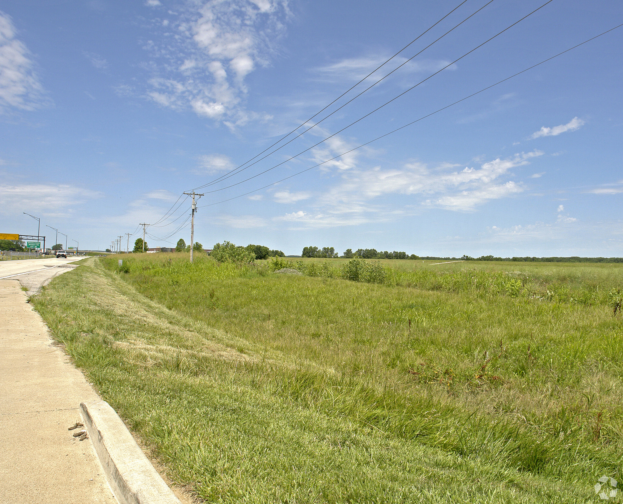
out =
[(181, 504), (108, 402), (81, 402), (80, 414), (120, 504)]

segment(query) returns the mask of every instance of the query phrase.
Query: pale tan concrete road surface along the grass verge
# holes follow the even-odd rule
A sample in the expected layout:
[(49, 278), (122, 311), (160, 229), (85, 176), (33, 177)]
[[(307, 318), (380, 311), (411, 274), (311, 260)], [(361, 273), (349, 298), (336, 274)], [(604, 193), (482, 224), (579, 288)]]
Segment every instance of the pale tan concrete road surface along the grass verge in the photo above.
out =
[[(74, 259), (0, 262), (0, 494), (12, 504), (116, 503), (90, 440), (72, 437), (99, 399), (26, 302)], [(40, 270), (40, 271), (34, 271)], [(26, 273), (26, 274), (22, 274)], [(19, 280), (19, 281), (18, 281)]]

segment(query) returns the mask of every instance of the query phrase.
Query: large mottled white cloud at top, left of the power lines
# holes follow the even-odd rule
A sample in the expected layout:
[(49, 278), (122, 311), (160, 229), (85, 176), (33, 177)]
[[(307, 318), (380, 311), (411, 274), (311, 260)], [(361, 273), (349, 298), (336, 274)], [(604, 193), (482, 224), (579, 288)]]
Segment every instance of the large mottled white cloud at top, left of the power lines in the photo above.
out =
[[(245, 77), (269, 64), (290, 16), (287, 0), (188, 2), (188, 9), (155, 29), (168, 33), (166, 45), (153, 40), (145, 65), (153, 74), (146, 97), (162, 107), (193, 110), (235, 129), (265, 114), (247, 112)], [(173, 15), (173, 13), (171, 13)], [(182, 62), (180, 64), (180, 62)]]

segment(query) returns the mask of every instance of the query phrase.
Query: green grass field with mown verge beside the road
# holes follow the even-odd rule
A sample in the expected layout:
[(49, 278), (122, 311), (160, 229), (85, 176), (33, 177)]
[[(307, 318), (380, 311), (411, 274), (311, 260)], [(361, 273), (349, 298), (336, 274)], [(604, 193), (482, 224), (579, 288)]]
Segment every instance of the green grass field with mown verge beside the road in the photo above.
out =
[(34, 305), (207, 502), (595, 502), (623, 480), (621, 264), (385, 260), (368, 283), (341, 259), (117, 259)]

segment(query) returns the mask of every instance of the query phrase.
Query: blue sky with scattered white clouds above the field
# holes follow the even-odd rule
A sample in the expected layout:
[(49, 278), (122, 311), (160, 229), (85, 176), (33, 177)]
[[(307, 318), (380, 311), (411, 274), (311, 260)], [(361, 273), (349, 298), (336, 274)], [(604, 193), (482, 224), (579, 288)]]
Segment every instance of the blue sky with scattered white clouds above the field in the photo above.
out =
[[(462, 4), (307, 127), (487, 1)], [(305, 135), (197, 190), (196, 240), (621, 257), (623, 27), (340, 156), (623, 23), (621, 2), (554, 0), (287, 161), (545, 1), (494, 0)], [(140, 222), (158, 223), (150, 247), (189, 242), (189, 201), (167, 213), (181, 193), (303, 125), (459, 3), (5, 0), (0, 232), (36, 233), (28, 212), (80, 248), (134, 240)]]

